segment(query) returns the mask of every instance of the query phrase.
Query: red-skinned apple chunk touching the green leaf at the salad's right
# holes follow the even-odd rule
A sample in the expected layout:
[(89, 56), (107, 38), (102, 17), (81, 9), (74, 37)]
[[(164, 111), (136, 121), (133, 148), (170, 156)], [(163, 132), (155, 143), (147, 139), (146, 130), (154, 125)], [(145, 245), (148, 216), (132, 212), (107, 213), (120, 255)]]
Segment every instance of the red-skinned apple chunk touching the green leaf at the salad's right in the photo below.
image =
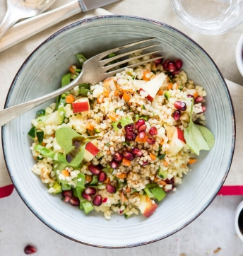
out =
[(172, 156), (176, 155), (186, 144), (184, 139), (184, 132), (176, 127), (174, 130), (174, 135), (168, 144), (170, 145), (170, 148), (167, 149), (167, 153), (172, 154)]

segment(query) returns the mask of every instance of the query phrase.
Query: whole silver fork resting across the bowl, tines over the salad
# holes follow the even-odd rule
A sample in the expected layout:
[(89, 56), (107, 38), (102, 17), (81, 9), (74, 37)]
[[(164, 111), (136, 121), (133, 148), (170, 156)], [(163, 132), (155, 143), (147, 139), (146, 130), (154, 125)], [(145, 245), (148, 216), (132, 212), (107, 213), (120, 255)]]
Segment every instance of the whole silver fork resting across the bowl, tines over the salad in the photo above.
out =
[(114, 64), (109, 64), (108, 66), (105, 66), (105, 64), (108, 64), (109, 62), (112, 62), (115, 59), (119, 59), (121, 57), (124, 57), (126, 55), (132, 54), (134, 52), (146, 50), (151, 47), (155, 47), (159, 44), (154, 44), (154, 45), (149, 45), (140, 49), (132, 50), (130, 52), (125, 52), (122, 54), (119, 54), (117, 56), (114, 56), (109, 59), (103, 59), (107, 55), (113, 53), (113, 52), (118, 52), (119, 50), (124, 50), (128, 47), (132, 47), (134, 45), (139, 45), (143, 42), (148, 42), (150, 40), (154, 40), (155, 38), (150, 38), (146, 40), (141, 40), (138, 42), (133, 42), (128, 45), (122, 45), (120, 47), (114, 48), (112, 50), (108, 50), (106, 52), (102, 52), (100, 54), (95, 55), (94, 57), (86, 60), (83, 63), (83, 68), (81, 71), (81, 74), (79, 74), (71, 83), (69, 83), (67, 86), (64, 86), (62, 88), (59, 88), (56, 91), (53, 91), (52, 93), (48, 93), (47, 95), (43, 95), (40, 98), (37, 98), (35, 100), (30, 100), (26, 103), (21, 103), (19, 105), (15, 105), (13, 107), (8, 107), (5, 110), (0, 111), (0, 127), (6, 124), (7, 122), (10, 122), (11, 120), (15, 119), (16, 117), (19, 117), (20, 115), (23, 115), (25, 112), (28, 112), (29, 110), (32, 110), (32, 108), (37, 107), (38, 105), (45, 103), (47, 100), (51, 100), (52, 98), (57, 97), (58, 95), (61, 95), (62, 93), (65, 93), (66, 91), (71, 90), (75, 86), (78, 86), (81, 83), (91, 83), (91, 84), (96, 84), (108, 76), (113, 76), (114, 74), (117, 74), (118, 72), (124, 71), (126, 68), (133, 68), (136, 66), (140, 66), (143, 64), (146, 64), (148, 62), (152, 62), (156, 59), (162, 59), (163, 57), (154, 57), (153, 59), (148, 59), (143, 62), (138, 62), (136, 64), (132, 64), (114, 71), (109, 71), (109, 69), (114, 68), (115, 66), (119, 66), (121, 64), (125, 64), (127, 62), (130, 62), (131, 60), (134, 59), (139, 59), (141, 57), (150, 55), (150, 54), (155, 54), (156, 52), (160, 52), (161, 50), (155, 50), (153, 52), (148, 52), (146, 54), (142, 54), (136, 57), (131, 57), (130, 59), (124, 59), (120, 62), (116, 62)]

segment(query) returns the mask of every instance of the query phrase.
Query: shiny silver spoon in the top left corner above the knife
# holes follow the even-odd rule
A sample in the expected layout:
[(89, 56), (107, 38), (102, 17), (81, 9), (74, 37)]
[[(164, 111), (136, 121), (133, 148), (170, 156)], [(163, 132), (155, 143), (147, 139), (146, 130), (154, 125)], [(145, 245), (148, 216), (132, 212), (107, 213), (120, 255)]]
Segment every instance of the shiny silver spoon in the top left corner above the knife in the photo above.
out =
[(7, 0), (7, 12), (0, 24), (0, 40), (20, 18), (29, 18), (45, 11), (55, 0)]

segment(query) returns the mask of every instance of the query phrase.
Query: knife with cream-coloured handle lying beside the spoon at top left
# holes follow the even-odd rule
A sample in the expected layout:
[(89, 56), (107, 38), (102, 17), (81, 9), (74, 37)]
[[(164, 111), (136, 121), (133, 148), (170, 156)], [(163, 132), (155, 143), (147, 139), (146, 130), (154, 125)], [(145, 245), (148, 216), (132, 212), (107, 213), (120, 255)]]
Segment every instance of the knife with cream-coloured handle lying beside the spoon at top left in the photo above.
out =
[[(49, 28), (50, 26), (64, 21), (82, 11), (90, 11), (95, 8), (112, 4), (119, 0), (76, 0), (69, 4), (55, 8), (52, 11), (41, 13), (35, 17), (28, 18), (13, 25), (11, 29), (0, 40), (0, 52), (8, 47), (16, 45), (18, 42), (25, 40), (38, 32)], [(107, 13), (109, 13), (107, 11)]]

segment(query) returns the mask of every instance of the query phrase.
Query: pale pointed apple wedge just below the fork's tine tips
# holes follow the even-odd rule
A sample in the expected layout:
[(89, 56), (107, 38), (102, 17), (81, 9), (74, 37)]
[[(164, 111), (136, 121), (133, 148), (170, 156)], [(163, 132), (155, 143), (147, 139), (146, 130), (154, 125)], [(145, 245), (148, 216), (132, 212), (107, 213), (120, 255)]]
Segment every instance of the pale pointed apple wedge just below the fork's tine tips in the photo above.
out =
[(162, 83), (164, 83), (165, 78), (166, 78), (165, 74), (160, 73), (158, 76), (155, 76), (155, 78), (145, 83), (139, 91), (141, 90), (146, 91), (146, 93), (148, 93), (148, 97), (147, 97), (148, 100), (153, 101), (153, 99), (155, 98), (155, 95), (160, 90)]

